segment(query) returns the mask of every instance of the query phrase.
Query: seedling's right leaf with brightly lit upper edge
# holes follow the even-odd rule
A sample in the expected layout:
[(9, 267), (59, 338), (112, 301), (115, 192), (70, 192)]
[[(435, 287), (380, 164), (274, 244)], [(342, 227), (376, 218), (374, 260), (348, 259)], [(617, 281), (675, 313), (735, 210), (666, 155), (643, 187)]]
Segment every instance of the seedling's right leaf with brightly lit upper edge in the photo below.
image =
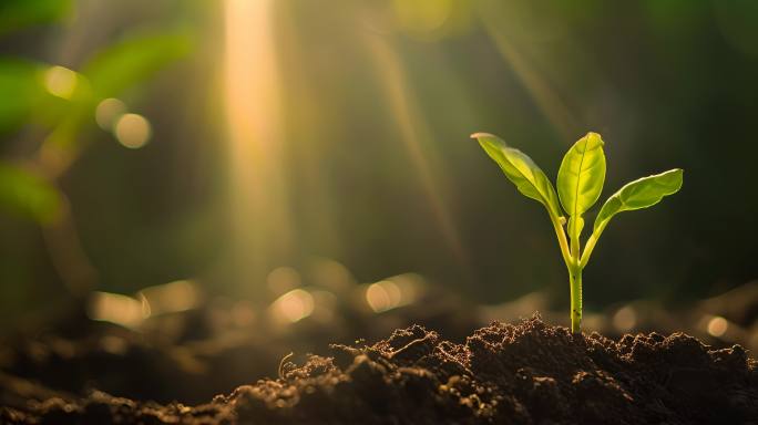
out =
[(613, 216), (622, 211), (647, 208), (656, 205), (664, 196), (676, 194), (682, 187), (682, 168), (647, 176), (628, 183), (605, 201), (595, 218), (595, 232), (602, 232)]

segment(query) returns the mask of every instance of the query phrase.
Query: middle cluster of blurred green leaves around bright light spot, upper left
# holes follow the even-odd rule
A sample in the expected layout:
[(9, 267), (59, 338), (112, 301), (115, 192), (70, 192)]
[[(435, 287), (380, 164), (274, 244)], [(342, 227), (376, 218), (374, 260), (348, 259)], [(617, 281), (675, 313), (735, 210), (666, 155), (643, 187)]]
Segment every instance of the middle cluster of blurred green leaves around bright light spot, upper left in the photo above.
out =
[(98, 103), (121, 95), (155, 72), (185, 56), (192, 41), (185, 31), (130, 34), (102, 48), (76, 73), (76, 91), (70, 100), (52, 96), (44, 87), (49, 64), (22, 59), (0, 59), (0, 134), (23, 124), (53, 127), (50, 137), (60, 146), (76, 146), (83, 126)]

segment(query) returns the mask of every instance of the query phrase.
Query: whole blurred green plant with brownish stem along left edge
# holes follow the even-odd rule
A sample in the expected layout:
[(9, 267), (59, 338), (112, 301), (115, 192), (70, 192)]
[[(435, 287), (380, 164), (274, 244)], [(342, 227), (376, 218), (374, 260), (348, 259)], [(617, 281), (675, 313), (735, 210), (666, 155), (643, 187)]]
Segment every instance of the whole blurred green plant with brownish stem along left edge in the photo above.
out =
[[(70, 10), (71, 1), (65, 0), (9, 0), (0, 4), (0, 37), (29, 25), (55, 22)], [(22, 142), (34, 147), (21, 149), (29, 154), (12, 160), (7, 155), (0, 158), (0, 209), (31, 219), (50, 234), (45, 235), (49, 250), (66, 251), (61, 256), (65, 260), (58, 262), (71, 262), (74, 257), (86, 262), (58, 178), (86, 147), (83, 135), (95, 123), (98, 104), (139, 86), (191, 49), (190, 33), (172, 28), (131, 31), (93, 52), (78, 71), (23, 58), (0, 58), (0, 141), (29, 127), (31, 131), (24, 136), (31, 135), (31, 139)], [(51, 83), (51, 79), (58, 82)], [(62, 89), (55, 89), (61, 79)], [(55, 257), (55, 252), (51, 256)], [(89, 262), (83, 266), (88, 267), (91, 268)], [(58, 268), (65, 274), (62, 270), (71, 266)], [(64, 281), (76, 279), (61, 277)], [(83, 287), (66, 283), (71, 288)]]

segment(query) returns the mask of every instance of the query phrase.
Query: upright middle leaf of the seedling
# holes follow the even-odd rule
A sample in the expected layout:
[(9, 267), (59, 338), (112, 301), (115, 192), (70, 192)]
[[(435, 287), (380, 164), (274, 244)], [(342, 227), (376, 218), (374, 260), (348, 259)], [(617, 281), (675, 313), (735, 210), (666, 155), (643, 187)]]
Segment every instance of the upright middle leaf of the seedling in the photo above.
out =
[(605, 182), (603, 139), (597, 133), (587, 133), (563, 157), (557, 177), (557, 193), (563, 209), (571, 216), (581, 216), (600, 198)]

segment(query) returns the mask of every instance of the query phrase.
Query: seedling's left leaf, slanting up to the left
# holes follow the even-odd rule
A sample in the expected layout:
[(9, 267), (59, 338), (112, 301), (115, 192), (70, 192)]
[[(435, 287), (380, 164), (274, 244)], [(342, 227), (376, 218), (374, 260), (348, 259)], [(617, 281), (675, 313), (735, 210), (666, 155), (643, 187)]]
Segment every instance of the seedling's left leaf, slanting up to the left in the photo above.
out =
[(561, 218), (561, 208), (553, 184), (532, 158), (489, 133), (475, 133), (471, 135), (471, 138), (479, 141), (484, 152), (500, 165), (505, 177), (516, 185), (519, 191), (544, 205), (551, 217)]

